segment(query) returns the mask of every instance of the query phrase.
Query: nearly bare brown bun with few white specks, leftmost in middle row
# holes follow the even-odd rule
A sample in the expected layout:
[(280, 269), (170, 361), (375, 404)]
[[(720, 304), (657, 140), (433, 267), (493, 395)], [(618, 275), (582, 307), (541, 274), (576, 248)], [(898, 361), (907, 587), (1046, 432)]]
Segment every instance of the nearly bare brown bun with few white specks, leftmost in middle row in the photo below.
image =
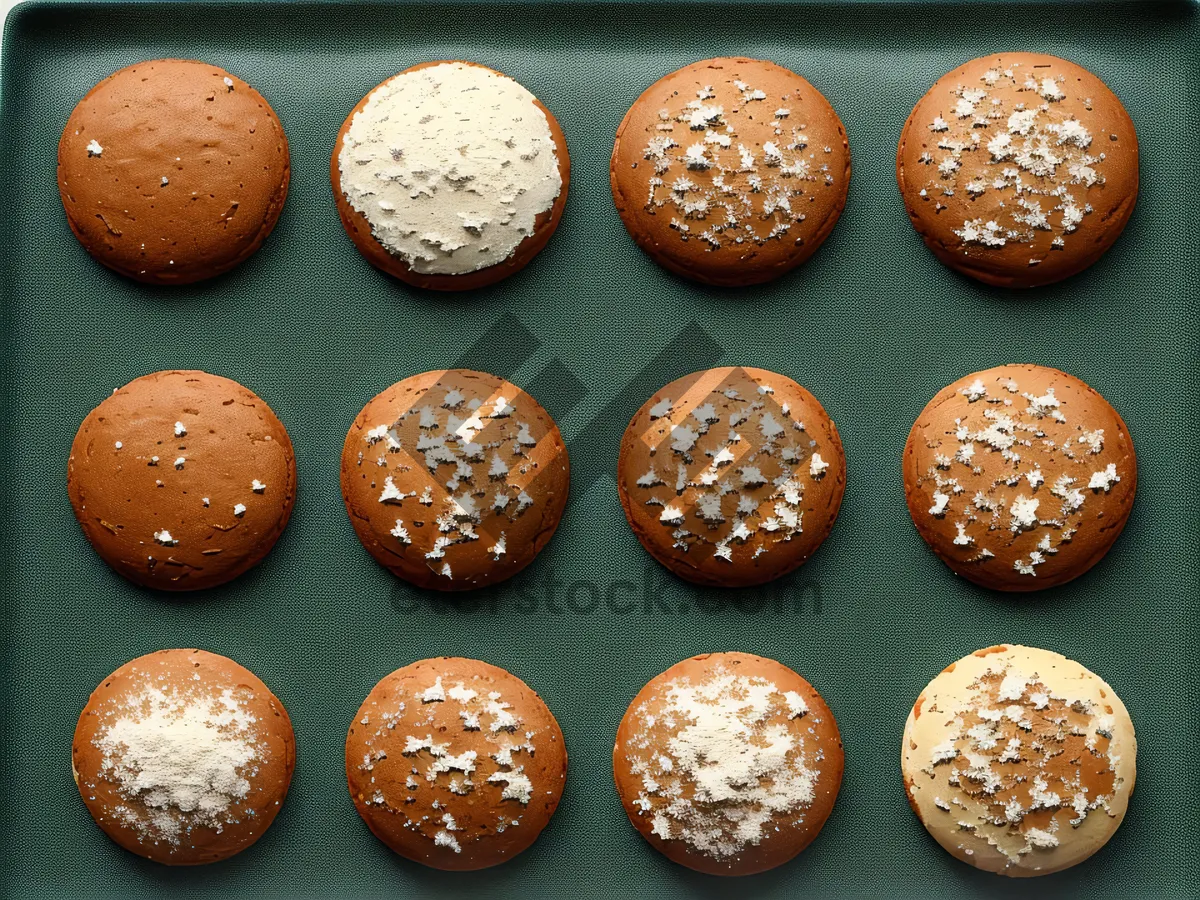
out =
[(236, 578), (275, 546), (295, 504), (295, 456), (247, 388), (208, 372), (155, 372), (83, 420), (67, 493), (119, 574), (198, 590)]

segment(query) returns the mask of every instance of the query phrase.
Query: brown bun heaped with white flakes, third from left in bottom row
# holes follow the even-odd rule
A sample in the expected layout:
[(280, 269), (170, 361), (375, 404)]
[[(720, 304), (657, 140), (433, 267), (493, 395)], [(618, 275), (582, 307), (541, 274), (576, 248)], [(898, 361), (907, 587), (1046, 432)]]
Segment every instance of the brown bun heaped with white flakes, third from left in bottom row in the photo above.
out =
[(817, 836), (845, 758), (811, 684), (774, 660), (709, 653), (671, 666), (634, 697), (612, 766), (629, 821), (667, 859), (752, 875)]

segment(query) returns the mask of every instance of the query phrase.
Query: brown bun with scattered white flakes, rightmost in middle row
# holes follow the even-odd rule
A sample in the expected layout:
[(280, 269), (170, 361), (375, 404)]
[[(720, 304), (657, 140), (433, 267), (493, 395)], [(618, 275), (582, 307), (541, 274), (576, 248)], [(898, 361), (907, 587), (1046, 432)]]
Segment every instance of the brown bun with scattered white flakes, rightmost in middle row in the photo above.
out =
[(997, 366), (922, 410), (904, 485), (917, 530), (956, 575), (1040, 590), (1109, 552), (1133, 509), (1138, 460), (1124, 421), (1081, 380)]

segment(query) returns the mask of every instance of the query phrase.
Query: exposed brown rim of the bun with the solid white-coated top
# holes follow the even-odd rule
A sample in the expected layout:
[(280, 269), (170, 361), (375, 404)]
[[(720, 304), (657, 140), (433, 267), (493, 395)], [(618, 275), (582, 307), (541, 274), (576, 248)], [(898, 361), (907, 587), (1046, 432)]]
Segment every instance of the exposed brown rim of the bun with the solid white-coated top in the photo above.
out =
[[(362, 112), (376, 91), (401, 76), (442, 65), (469, 66), (486, 72), (492, 72), (502, 78), (505, 77), (503, 73), (496, 72), (487, 66), (461, 60), (421, 62), (420, 65), (410, 66), (403, 72), (392, 76), (392, 78), (383, 82), (362, 97), (362, 100), (359, 101), (359, 104), (350, 110), (348, 116), (346, 116), (346, 121), (342, 122), (342, 127), (337, 132), (337, 140), (334, 143), (334, 152), (329, 163), (330, 179), (332, 180), (334, 199), (337, 202), (337, 212), (342, 218), (342, 226), (346, 228), (346, 233), (350, 236), (350, 240), (354, 241), (354, 245), (359, 248), (359, 252), (366, 257), (371, 265), (418, 288), (426, 288), (430, 290), (473, 290), (475, 288), (494, 284), (496, 282), (521, 271), (521, 269), (523, 269), (529, 260), (538, 256), (542, 247), (546, 246), (547, 241), (550, 241), (550, 236), (554, 233), (554, 229), (558, 228), (558, 223), (563, 217), (563, 209), (566, 206), (566, 191), (571, 181), (571, 160), (566, 150), (566, 137), (563, 134), (563, 130), (559, 126), (558, 120), (540, 100), (534, 98), (533, 102), (546, 116), (546, 124), (550, 126), (550, 134), (554, 143), (554, 156), (558, 162), (558, 173), (562, 179), (562, 187), (558, 191), (558, 196), (556, 197), (553, 205), (548, 210), (538, 214), (534, 220), (533, 232), (517, 244), (511, 254), (509, 254), (503, 262), (488, 265), (484, 269), (454, 275), (425, 274), (413, 269), (404, 262), (404, 259), (384, 247), (372, 234), (371, 222), (361, 211), (354, 208), (342, 187), (342, 173), (338, 164), (338, 157), (341, 156), (342, 149), (346, 144), (346, 136), (349, 132), (355, 116)], [(416, 127), (415, 122), (407, 124)], [(449, 192), (448, 196), (450, 196)]]

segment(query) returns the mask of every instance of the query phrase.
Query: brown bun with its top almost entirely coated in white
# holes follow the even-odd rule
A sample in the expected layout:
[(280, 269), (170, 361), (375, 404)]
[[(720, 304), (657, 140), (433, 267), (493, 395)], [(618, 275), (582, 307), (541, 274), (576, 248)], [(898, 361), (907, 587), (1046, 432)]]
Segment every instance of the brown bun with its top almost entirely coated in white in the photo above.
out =
[(346, 233), (419, 288), (470, 290), (520, 271), (566, 205), (571, 161), (553, 114), (474, 62), (406, 68), (346, 118), (330, 160)]

